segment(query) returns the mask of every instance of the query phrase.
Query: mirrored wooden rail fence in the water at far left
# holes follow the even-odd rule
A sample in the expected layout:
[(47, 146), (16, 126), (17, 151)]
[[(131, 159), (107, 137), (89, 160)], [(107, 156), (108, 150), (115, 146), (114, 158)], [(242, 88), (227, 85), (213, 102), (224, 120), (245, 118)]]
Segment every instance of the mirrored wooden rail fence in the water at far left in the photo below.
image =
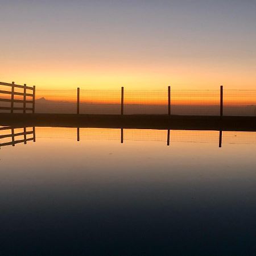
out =
[(28, 141), (35, 142), (35, 127), (0, 127), (0, 147), (27, 144)]

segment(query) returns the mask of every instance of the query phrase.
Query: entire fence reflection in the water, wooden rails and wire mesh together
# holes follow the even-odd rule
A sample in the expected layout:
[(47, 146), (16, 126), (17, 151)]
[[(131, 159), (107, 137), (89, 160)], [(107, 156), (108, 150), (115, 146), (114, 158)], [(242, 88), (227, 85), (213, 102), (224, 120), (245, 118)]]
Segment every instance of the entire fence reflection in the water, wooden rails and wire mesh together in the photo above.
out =
[(26, 144), (36, 138), (101, 140), (101, 141), (152, 141), (165, 142), (168, 146), (175, 142), (256, 144), (256, 132), (241, 131), (200, 131), (200, 130), (150, 130), (150, 129), (106, 129), (67, 127), (0, 127), (0, 148)]

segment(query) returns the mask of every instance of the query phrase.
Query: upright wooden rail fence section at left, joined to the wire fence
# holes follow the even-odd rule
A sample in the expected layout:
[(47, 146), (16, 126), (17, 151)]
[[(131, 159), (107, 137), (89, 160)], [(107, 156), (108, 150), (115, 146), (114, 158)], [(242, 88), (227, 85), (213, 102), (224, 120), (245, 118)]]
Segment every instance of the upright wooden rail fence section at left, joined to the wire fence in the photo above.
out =
[[(1, 89), (5, 89), (0, 90), (0, 94), (2, 94), (0, 101), (3, 103), (3, 106), (0, 106), (0, 110), (9, 110), (11, 113), (14, 110), (21, 110), (23, 113), (27, 113), (27, 110), (30, 110), (35, 113), (35, 86), (17, 85), (14, 82), (11, 84), (0, 82), (0, 85)], [(30, 97), (30, 100), (27, 100), (27, 97)], [(14, 106), (14, 104), (19, 104), (19, 106)], [(31, 105), (30, 108), (27, 107), (27, 104)]]

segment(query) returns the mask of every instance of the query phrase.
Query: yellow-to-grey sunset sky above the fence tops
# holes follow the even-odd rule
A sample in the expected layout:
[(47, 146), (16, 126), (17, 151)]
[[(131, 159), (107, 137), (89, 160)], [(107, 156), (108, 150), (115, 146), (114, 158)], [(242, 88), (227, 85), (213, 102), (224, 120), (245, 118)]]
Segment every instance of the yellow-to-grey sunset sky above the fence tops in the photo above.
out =
[(256, 89), (255, 13), (255, 0), (0, 0), (0, 81)]

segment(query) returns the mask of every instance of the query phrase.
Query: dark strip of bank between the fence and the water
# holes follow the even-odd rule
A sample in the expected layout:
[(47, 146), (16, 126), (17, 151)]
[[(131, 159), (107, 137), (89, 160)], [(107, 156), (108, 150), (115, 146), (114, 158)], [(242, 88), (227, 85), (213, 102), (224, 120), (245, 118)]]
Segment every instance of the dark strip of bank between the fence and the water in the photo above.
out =
[(0, 113), (1, 126), (256, 131), (256, 117)]

